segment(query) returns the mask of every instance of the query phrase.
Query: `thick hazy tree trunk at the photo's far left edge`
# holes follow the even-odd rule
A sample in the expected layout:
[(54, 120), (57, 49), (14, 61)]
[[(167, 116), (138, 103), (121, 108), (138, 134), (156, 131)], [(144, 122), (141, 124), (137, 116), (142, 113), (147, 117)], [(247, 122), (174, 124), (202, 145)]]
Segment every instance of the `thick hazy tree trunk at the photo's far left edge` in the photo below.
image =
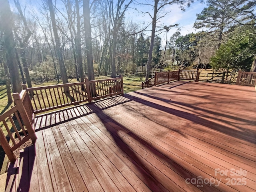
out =
[(10, 77), (12, 81), (12, 92), (20, 92), (22, 90), (20, 85), (20, 74), (18, 72), (18, 64), (15, 53), (14, 35), (12, 32), (13, 21), (12, 12), (8, 0), (0, 1), (0, 18), (1, 31), (4, 34), (4, 45), (6, 48), (6, 63), (9, 68)]

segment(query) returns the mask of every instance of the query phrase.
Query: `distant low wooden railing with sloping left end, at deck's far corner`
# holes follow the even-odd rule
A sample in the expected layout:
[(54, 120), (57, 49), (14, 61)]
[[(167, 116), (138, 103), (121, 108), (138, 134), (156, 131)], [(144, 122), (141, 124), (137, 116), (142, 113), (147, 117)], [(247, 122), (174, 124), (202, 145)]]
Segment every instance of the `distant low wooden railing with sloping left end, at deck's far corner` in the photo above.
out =
[(168, 72), (155, 72), (155, 75), (149, 80), (142, 82), (142, 89), (156, 86), (173, 80), (195, 80), (199, 79), (198, 70), (178, 70)]

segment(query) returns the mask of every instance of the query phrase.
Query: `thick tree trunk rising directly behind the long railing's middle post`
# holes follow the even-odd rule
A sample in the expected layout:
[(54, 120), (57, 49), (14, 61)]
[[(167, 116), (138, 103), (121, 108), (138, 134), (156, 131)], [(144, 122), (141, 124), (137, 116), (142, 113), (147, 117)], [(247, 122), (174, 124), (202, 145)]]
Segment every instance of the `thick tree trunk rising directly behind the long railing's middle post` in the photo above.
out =
[(87, 56), (87, 68), (88, 68), (88, 80), (94, 80), (93, 60), (92, 60), (92, 34), (90, 24), (90, 4), (88, 0), (83, 1), (84, 6), (84, 32), (85, 32), (85, 44), (86, 44), (86, 56)]

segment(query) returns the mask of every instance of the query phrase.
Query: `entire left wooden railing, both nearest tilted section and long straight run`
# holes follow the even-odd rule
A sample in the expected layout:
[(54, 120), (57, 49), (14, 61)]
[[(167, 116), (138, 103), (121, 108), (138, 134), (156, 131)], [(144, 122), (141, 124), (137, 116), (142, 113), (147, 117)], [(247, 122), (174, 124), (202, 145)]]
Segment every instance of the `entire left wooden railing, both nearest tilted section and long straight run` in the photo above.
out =
[[(6, 128), (8, 136), (12, 141), (12, 146), (8, 143), (2, 128), (0, 128), (0, 144), (12, 163), (16, 160), (13, 154), (14, 150), (29, 139), (33, 143), (36, 141), (37, 137), (34, 130), (34, 117), (36, 113), (80, 102), (92, 102), (92, 100), (124, 94), (122, 77), (94, 81), (88, 81), (86, 78), (84, 82), (34, 88), (27, 88), (26, 84), (23, 84), (22, 88), (23, 90), (20, 94), (12, 94), (16, 105), (0, 115), (0, 122)], [(68, 90), (68, 93), (64, 94), (64, 90)], [(31, 99), (30, 96), (32, 96)], [(40, 102), (40, 98), (42, 98), (42, 102)], [(11, 126), (7, 123), (8, 121), (10, 121)], [(21, 137), (17, 127), (22, 129), (24, 138)], [(18, 142), (12, 136), (11, 128), (16, 132), (17, 138), (19, 139)]]

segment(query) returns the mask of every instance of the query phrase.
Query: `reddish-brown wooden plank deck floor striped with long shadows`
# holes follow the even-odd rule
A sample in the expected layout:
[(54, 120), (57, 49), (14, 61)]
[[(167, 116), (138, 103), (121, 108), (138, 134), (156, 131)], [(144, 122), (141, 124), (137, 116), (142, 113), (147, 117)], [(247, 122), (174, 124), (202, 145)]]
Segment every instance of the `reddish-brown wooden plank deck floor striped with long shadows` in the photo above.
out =
[(252, 87), (176, 81), (39, 116), (36, 135), (8, 190), (256, 191)]

